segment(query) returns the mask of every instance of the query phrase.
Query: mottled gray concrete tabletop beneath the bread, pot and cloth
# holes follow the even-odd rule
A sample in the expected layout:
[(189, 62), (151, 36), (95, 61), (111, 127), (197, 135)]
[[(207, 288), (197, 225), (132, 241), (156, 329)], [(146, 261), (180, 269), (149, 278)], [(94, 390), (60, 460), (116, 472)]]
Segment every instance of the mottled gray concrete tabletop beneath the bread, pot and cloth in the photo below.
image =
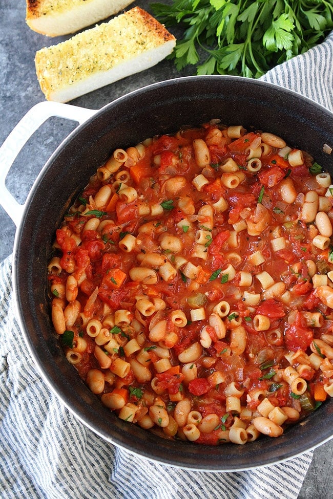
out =
[[(135, 4), (148, 8), (149, 2), (143, 0)], [(0, 144), (2, 144), (19, 119), (34, 104), (44, 100), (35, 75), (35, 51), (64, 38), (51, 40), (31, 31), (25, 24), (25, 0), (17, 2), (0, 0), (0, 14)], [(180, 74), (176, 72), (171, 61), (165, 60), (155, 68), (82, 96), (72, 104), (99, 109), (113, 99), (145, 84), (188, 74), (191, 74), (191, 69)], [(74, 127), (73, 122), (50, 119), (18, 155), (7, 178), (7, 185), (20, 203), (24, 202), (41, 166)], [(1, 207), (0, 231), (0, 260), (2, 260), (13, 251), (15, 226)], [(332, 453), (333, 440), (314, 451), (314, 459), (298, 499), (333, 498)], [(283, 491), (281, 492), (283, 494)]]

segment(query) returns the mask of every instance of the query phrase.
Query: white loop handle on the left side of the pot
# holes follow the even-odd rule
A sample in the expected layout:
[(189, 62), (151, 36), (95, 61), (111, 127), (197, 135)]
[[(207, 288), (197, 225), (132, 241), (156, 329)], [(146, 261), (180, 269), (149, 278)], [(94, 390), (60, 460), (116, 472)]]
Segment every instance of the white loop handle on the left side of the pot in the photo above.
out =
[(6, 177), (19, 151), (34, 132), (53, 116), (77, 121), (79, 124), (87, 121), (97, 110), (85, 109), (71, 104), (59, 102), (39, 102), (17, 123), (0, 147), (0, 204), (8, 213), (16, 227), (20, 223), (25, 203), (20, 204), (6, 187)]

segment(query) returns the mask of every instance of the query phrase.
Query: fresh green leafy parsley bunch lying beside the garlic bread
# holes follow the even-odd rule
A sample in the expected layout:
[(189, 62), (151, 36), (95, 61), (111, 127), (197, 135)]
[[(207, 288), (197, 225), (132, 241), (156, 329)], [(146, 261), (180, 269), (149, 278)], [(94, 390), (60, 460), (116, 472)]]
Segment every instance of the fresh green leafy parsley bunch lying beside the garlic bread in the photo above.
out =
[(332, 0), (172, 0), (151, 4), (170, 27), (185, 28), (171, 58), (198, 75), (259, 78), (318, 44), (333, 29)]

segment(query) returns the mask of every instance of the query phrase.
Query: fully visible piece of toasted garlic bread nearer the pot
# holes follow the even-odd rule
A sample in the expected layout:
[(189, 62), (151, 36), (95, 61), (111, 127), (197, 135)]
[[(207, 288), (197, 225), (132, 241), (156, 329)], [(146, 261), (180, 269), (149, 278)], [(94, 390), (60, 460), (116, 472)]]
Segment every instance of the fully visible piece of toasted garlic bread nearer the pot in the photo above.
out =
[(154, 17), (135, 7), (37, 51), (40, 88), (48, 100), (66, 102), (153, 66), (172, 52), (175, 42)]

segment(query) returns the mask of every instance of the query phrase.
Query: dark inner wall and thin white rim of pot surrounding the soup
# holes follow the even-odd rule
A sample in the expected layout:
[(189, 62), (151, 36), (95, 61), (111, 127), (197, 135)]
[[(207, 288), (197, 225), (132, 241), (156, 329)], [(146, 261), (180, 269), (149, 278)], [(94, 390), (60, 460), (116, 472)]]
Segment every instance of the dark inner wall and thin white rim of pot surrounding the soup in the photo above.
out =
[[(118, 419), (82, 383), (65, 359), (50, 323), (46, 268), (55, 229), (69, 201), (116, 147), (135, 145), (182, 125), (212, 118), (264, 129), (309, 151), (333, 173), (333, 115), (321, 106), (256, 80), (203, 76), (169, 80), (103, 107), (55, 151), (38, 177), (16, 234), (14, 287), (23, 333), (45, 380), (72, 412), (106, 440), (162, 463), (201, 470), (239, 470), (267, 465), (317, 446), (332, 435), (333, 402), (323, 404), (278, 439), (219, 447), (159, 439)], [(33, 293), (28, 292), (33, 290)]]

